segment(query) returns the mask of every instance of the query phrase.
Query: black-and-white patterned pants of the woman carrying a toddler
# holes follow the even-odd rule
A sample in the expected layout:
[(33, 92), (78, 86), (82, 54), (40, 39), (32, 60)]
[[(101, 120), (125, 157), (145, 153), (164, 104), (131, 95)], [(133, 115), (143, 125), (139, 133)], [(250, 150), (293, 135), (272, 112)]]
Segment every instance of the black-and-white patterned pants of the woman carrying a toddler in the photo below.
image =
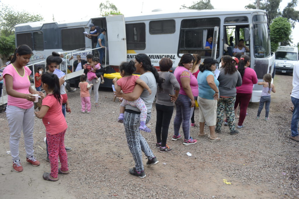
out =
[[(146, 123), (149, 122), (150, 117), (150, 113), (147, 113)], [(149, 148), (147, 141), (144, 139), (144, 137), (141, 135), (139, 131), (139, 118), (139, 114), (128, 113), (125, 111), (123, 117), (123, 125), (125, 127), (129, 150), (132, 153), (133, 159), (135, 161), (136, 171), (141, 172), (144, 170), (141, 151), (143, 151), (145, 156), (147, 156), (147, 158), (149, 159), (152, 159), (155, 156), (152, 153), (152, 150)]]

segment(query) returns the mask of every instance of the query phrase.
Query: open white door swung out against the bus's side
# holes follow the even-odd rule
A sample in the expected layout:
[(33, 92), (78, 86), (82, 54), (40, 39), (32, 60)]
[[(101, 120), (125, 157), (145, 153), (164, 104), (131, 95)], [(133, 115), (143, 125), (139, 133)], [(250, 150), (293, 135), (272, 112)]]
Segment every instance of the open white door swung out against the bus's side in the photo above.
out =
[(109, 34), (109, 65), (119, 66), (127, 60), (125, 19), (123, 15), (107, 16), (106, 22)]

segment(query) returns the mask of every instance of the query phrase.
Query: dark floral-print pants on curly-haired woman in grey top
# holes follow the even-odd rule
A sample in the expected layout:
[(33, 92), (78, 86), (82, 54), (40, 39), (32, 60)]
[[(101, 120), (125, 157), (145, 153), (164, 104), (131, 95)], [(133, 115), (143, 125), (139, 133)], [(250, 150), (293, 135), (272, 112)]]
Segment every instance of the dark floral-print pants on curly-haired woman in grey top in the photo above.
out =
[(224, 111), (228, 121), (228, 127), (231, 132), (235, 130), (235, 110), (234, 105), (236, 101), (236, 96), (230, 98), (220, 97), (217, 103), (217, 123), (216, 130), (220, 131), (223, 122)]

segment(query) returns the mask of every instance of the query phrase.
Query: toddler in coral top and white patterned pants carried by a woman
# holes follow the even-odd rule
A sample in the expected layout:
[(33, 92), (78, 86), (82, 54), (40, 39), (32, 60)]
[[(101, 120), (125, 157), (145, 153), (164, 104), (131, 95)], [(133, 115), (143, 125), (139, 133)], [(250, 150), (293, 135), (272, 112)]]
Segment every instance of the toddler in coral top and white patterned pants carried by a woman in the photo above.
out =
[[(119, 71), (122, 78), (120, 78), (119, 80), (117, 80), (117, 78), (114, 78), (112, 80), (116, 92), (120, 92), (121, 90), (123, 91), (123, 93), (133, 92), (136, 83), (138, 83), (139, 85), (147, 89), (149, 94), (152, 93), (149, 86), (143, 80), (141, 80), (139, 76), (132, 75), (136, 71), (135, 63), (133, 60), (121, 63), (119, 66)], [(151, 130), (145, 125), (147, 119), (147, 107), (140, 97), (135, 101), (128, 101), (126, 99), (123, 99), (122, 103), (120, 104), (120, 114), (118, 117), (118, 122), (123, 123), (123, 113), (125, 112), (125, 107), (128, 104), (138, 108), (141, 112), (139, 129), (145, 132), (151, 132)]]

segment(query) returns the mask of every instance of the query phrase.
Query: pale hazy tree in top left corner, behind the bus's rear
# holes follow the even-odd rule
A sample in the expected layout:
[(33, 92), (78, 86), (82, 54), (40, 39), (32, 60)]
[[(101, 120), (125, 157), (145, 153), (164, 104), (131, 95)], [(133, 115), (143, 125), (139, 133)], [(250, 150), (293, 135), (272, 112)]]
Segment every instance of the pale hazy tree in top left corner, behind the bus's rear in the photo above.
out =
[(42, 20), (43, 17), (39, 14), (34, 15), (26, 11), (16, 11), (3, 4), (0, 6), (0, 29), (2, 36), (8, 37), (12, 35), (17, 24)]

